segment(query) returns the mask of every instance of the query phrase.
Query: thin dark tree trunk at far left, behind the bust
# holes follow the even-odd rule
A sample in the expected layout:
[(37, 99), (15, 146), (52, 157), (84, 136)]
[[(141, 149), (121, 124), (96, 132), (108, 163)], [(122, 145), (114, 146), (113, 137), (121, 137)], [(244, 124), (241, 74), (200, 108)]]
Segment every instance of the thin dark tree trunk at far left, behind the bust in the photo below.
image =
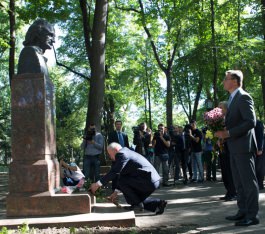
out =
[(9, 27), (10, 27), (10, 40), (9, 40), (9, 84), (11, 85), (12, 77), (15, 73), (15, 0), (9, 1)]

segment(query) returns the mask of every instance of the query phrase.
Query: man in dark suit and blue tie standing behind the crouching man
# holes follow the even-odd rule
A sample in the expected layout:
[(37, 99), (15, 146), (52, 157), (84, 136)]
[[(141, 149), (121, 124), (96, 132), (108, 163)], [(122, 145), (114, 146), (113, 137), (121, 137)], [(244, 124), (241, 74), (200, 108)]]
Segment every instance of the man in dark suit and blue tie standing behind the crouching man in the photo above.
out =
[(119, 143), (122, 147), (129, 148), (128, 135), (122, 132), (122, 121), (115, 121), (115, 131), (111, 132), (108, 137), (108, 144), (116, 142)]

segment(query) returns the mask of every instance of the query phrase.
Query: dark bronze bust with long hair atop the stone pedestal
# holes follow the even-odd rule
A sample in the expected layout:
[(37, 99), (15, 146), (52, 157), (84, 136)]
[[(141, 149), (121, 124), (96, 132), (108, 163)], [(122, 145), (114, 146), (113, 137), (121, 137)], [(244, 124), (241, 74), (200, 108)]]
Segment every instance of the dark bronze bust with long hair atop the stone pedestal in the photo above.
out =
[(49, 77), (47, 58), (43, 56), (45, 50), (51, 49), (55, 42), (55, 30), (53, 25), (44, 19), (37, 19), (26, 33), (25, 46), (19, 56), (18, 72), (43, 73)]

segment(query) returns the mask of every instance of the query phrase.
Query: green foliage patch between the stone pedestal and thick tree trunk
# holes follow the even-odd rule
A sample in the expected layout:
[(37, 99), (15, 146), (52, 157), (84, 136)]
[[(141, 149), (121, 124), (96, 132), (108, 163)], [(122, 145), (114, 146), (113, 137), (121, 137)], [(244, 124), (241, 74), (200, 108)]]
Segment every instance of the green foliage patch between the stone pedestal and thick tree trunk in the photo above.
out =
[[(72, 82), (61, 72), (51, 72), (56, 89), (56, 140), (59, 158), (81, 160), (80, 144), (86, 115), (87, 88)], [(73, 85), (75, 84), (75, 85)]]

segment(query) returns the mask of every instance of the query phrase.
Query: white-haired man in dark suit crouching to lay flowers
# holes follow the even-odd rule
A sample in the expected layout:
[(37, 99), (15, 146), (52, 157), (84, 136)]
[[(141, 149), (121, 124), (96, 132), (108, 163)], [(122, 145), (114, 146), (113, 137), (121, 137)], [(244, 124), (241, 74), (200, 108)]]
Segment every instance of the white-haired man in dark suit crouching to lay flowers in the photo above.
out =
[(163, 214), (167, 202), (149, 197), (160, 183), (160, 176), (152, 164), (142, 155), (126, 147), (122, 148), (118, 143), (111, 143), (107, 150), (114, 164), (105, 176), (91, 184), (91, 192), (95, 193), (100, 186), (117, 178), (117, 187), (110, 195), (112, 202), (116, 201), (120, 190), (131, 205), (128, 209), (146, 209)]

